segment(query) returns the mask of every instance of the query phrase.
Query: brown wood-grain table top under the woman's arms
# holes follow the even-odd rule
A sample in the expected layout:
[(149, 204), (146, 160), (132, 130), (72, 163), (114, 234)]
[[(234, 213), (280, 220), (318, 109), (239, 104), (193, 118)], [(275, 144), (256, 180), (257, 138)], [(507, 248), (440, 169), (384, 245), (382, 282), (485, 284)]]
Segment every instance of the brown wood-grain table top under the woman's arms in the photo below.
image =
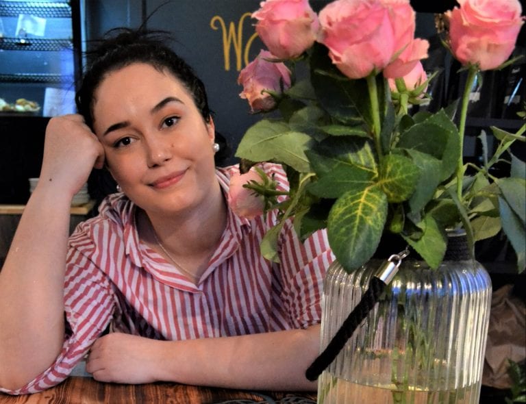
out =
[(44, 392), (23, 396), (0, 393), (1, 404), (315, 404), (309, 392), (251, 392), (178, 383), (101, 383), (91, 377), (68, 377)]

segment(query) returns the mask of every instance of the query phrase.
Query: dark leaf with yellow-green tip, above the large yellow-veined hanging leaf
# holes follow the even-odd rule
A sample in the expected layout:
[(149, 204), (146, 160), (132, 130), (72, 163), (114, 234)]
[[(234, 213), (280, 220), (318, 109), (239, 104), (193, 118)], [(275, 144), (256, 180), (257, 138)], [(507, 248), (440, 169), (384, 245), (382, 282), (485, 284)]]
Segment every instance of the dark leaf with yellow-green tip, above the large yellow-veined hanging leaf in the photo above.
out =
[(371, 175), (377, 174), (371, 142), (358, 136), (330, 136), (306, 151), (312, 170), (318, 177), (332, 175), (336, 167), (358, 166)]

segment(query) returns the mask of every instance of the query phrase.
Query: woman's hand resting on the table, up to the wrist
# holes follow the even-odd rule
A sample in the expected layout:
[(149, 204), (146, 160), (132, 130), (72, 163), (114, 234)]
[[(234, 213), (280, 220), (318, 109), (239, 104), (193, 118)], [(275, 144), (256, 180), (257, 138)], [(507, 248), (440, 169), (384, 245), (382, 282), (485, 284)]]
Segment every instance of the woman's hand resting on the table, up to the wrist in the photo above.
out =
[(110, 333), (92, 345), (86, 371), (98, 381), (151, 383), (162, 342), (125, 333)]

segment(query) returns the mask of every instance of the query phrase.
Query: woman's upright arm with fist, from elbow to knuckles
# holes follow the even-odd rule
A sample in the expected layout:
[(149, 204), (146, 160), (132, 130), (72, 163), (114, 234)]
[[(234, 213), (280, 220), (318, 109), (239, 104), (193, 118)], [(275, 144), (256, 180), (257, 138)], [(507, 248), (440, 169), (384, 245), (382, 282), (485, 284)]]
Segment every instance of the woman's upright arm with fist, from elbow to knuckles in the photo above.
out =
[[(40, 181), (0, 272), (0, 386), (16, 390), (47, 369), (64, 342), (64, 271), (73, 194), (103, 149), (78, 115), (53, 118)], [(97, 163), (95, 163), (97, 161)]]

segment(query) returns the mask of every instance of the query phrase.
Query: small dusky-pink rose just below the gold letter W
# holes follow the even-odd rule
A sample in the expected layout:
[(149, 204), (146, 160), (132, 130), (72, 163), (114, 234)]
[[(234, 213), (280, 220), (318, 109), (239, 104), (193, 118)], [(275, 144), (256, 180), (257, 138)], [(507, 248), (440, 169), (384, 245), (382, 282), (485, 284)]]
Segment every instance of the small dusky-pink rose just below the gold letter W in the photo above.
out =
[(239, 73), (238, 84), (243, 86), (239, 94), (249, 100), (251, 110), (271, 110), (276, 101), (268, 91), (281, 93), (290, 88), (290, 70), (281, 62), (268, 62), (265, 59), (275, 59), (269, 51), (260, 51), (255, 60), (247, 64)]

